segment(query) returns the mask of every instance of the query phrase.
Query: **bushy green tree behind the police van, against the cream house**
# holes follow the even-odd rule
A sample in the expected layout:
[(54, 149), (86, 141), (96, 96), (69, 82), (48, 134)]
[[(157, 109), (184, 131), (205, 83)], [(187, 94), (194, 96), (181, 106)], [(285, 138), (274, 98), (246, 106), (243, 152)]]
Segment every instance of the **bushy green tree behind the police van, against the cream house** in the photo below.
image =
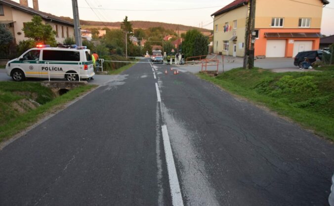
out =
[(57, 41), (55, 40), (56, 32), (48, 24), (42, 23), (41, 16), (33, 16), (31, 22), (26, 22), (22, 29), (25, 36), (43, 44), (50, 44), (55, 46)]

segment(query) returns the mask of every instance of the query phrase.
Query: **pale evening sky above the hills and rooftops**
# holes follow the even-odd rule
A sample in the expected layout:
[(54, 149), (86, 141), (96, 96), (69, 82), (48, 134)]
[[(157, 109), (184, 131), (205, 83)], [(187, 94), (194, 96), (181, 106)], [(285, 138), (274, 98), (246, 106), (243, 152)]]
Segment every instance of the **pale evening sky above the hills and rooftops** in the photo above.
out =
[[(14, 0), (19, 2), (19, 0)], [(211, 14), (233, 0), (78, 0), (82, 20), (156, 21), (213, 30)], [(323, 9), (322, 34), (334, 35), (334, 0)], [(32, 6), (32, 0), (28, 0)], [(73, 18), (72, 0), (39, 0), (40, 10)], [(91, 9), (92, 7), (93, 9)], [(296, 12), (301, 12), (297, 11)]]

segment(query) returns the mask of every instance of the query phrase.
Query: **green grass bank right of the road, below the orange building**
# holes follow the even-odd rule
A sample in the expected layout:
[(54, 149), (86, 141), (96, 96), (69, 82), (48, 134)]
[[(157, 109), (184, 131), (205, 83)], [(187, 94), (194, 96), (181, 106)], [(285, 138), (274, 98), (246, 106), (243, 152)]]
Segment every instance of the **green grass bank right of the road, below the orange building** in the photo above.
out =
[(198, 76), (334, 140), (334, 71), (333, 66), (323, 68), (289, 73), (234, 69), (217, 77)]

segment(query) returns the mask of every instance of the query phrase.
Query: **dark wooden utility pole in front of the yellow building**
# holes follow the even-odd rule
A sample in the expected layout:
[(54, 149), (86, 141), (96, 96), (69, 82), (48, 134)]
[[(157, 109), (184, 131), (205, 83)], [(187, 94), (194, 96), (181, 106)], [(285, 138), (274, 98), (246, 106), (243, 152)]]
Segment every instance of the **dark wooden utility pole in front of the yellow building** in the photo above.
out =
[(256, 0), (249, 1), (249, 15), (247, 18), (244, 69), (254, 67), (254, 43), (255, 43), (255, 5)]

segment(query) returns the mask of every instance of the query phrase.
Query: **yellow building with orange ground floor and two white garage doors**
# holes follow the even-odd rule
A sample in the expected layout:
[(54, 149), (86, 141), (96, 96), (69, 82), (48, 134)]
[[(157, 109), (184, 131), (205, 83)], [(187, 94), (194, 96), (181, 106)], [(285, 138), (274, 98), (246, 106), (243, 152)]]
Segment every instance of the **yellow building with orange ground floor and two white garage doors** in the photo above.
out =
[[(255, 56), (294, 57), (319, 49), (323, 6), (327, 0), (256, 0)], [(235, 0), (216, 11), (213, 51), (244, 56), (249, 0)]]

